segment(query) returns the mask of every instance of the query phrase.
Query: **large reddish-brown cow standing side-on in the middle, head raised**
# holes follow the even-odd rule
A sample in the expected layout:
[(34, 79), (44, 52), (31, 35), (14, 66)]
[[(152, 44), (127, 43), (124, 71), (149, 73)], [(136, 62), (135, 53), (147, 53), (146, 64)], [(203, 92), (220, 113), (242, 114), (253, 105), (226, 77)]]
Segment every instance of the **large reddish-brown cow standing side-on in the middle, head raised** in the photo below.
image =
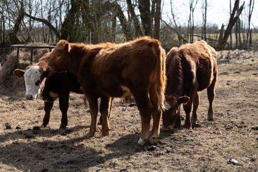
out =
[[(105, 47), (106, 46), (106, 47)], [(102, 135), (109, 135), (108, 112), (111, 97), (134, 96), (140, 111), (142, 132), (139, 144), (157, 143), (162, 111), (165, 109), (165, 51), (156, 39), (141, 37), (122, 44), (81, 45), (60, 40), (53, 50), (48, 69), (71, 71), (79, 79), (89, 103), (89, 135), (97, 129), (98, 97), (101, 98)]]

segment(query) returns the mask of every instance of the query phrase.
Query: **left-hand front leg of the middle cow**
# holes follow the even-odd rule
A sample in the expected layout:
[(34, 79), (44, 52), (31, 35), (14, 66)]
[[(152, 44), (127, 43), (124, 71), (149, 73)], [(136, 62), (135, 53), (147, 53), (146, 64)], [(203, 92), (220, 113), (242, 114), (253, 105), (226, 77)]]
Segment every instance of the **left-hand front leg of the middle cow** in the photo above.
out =
[(98, 97), (94, 95), (87, 95), (86, 97), (91, 117), (88, 135), (94, 137), (95, 132), (97, 131)]

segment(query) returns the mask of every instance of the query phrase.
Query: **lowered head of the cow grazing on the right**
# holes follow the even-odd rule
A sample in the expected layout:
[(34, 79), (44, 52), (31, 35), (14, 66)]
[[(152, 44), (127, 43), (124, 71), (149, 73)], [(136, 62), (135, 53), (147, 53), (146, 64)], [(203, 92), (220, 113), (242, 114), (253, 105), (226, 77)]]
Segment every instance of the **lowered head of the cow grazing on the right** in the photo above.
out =
[(166, 95), (166, 102), (169, 103), (170, 108), (162, 114), (163, 129), (170, 130), (173, 128), (176, 117), (179, 113), (179, 107), (181, 104), (187, 104), (190, 100), (187, 96), (176, 98), (172, 95)]

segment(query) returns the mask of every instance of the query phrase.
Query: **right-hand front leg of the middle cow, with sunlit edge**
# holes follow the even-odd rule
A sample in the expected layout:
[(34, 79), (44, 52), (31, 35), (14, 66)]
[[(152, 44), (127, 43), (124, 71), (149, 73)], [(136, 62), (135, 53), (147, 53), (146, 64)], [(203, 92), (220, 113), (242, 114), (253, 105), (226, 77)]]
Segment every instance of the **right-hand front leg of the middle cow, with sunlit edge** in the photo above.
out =
[(102, 136), (109, 135), (109, 110), (112, 98), (101, 96), (99, 111), (102, 116)]

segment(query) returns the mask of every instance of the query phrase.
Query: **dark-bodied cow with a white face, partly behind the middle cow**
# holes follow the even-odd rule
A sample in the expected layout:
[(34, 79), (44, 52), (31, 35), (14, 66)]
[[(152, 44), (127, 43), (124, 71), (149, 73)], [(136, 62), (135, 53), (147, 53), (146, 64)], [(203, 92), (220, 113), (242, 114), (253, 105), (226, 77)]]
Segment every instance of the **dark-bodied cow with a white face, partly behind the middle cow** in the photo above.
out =
[(69, 72), (53, 74), (44, 79), (49, 73), (46, 71), (49, 55), (50, 52), (44, 54), (38, 63), (28, 66), (25, 70), (15, 69), (14, 74), (19, 78), (24, 77), (26, 99), (33, 100), (40, 96), (43, 98), (45, 110), (43, 127), (48, 125), (54, 101), (59, 97), (59, 108), (62, 112), (60, 129), (64, 129), (67, 126), (69, 93), (73, 91), (82, 94), (83, 91), (77, 78)]

